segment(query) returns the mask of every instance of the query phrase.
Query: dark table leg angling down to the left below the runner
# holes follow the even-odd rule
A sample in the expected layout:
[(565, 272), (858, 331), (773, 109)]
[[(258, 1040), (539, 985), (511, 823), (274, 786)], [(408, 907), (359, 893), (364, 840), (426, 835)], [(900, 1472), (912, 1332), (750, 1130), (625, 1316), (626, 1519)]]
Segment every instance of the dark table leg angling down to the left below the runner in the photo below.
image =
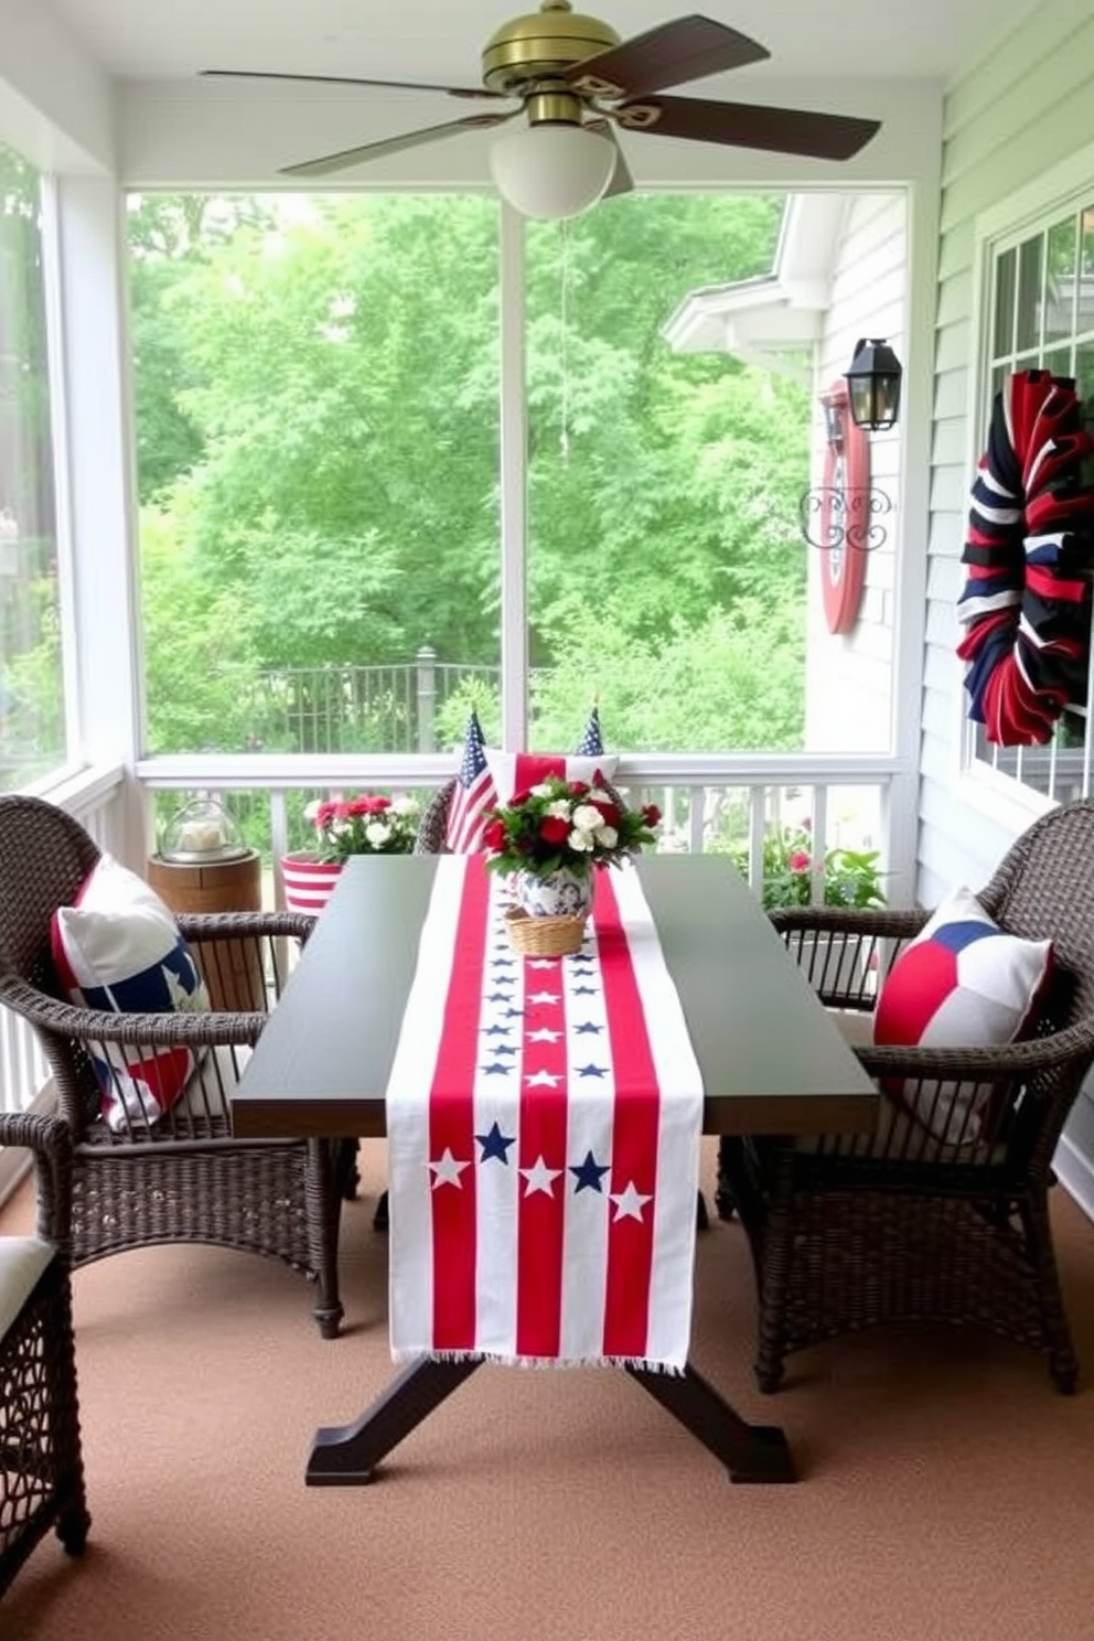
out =
[(412, 1362), (353, 1424), (315, 1433), (303, 1472), (308, 1487), (361, 1487), (403, 1436), (471, 1378), (479, 1362)]

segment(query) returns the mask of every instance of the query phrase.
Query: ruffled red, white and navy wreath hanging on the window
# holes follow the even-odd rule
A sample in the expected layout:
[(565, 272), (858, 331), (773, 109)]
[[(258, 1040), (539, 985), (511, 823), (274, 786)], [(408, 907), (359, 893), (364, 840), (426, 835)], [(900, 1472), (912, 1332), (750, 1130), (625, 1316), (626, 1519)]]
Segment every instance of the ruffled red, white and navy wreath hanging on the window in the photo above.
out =
[(1086, 704), (1092, 455), (1073, 381), (1019, 371), (996, 394), (961, 553), (958, 655), (969, 717), (999, 747), (1040, 745), (1064, 707)]

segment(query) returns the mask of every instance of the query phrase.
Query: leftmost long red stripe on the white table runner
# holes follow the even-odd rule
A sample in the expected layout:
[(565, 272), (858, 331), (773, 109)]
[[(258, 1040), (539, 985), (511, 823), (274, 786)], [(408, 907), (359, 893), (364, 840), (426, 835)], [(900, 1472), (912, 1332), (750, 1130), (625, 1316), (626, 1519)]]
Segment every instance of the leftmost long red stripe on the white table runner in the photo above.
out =
[(459, 1173), (459, 1185), (435, 1185), (430, 1193), (435, 1351), (476, 1346), (474, 1081), (489, 898), (484, 860), (472, 855), (464, 870), (453, 973), (430, 1085), (430, 1162), (438, 1162), (448, 1149), (456, 1162), (469, 1163)]

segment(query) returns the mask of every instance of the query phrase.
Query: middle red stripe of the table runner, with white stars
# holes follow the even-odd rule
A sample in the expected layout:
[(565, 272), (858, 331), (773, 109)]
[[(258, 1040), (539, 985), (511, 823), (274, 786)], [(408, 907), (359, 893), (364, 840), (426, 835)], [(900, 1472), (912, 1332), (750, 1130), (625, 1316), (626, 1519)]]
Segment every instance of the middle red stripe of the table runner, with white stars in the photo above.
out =
[[(518, 1168), (559, 1170), (535, 1190), (520, 1175), (517, 1208), (517, 1354), (558, 1355), (563, 1344), (563, 1242), (566, 1226), (566, 1003), (563, 967), (533, 968), (525, 958), (525, 1017), (520, 1080)], [(546, 1001), (546, 998), (553, 1001)], [(535, 1001), (541, 998), (543, 1001)], [(554, 1040), (535, 1040), (549, 1031)], [(530, 1081), (538, 1072), (554, 1083)]]

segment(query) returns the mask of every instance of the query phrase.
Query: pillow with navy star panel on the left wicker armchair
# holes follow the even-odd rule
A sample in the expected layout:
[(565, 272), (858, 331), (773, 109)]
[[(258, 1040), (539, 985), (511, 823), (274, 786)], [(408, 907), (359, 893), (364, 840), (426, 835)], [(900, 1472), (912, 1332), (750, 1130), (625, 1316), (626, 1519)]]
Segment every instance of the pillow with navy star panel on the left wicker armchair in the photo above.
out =
[[(208, 1009), (208, 993), (171, 909), (110, 855), (59, 906), (52, 960), (69, 1001), (113, 1014)], [(115, 1131), (151, 1124), (182, 1095), (194, 1070), (190, 1049), (136, 1050), (98, 1044), (93, 1052), (103, 1118)]]

